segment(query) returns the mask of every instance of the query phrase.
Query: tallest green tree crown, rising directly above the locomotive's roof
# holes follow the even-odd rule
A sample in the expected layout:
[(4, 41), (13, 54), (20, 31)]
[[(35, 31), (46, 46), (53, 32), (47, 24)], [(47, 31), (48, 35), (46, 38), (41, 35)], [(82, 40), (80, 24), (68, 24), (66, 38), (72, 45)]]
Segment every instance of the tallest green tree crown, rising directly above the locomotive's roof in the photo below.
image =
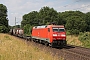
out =
[(53, 8), (43, 7), (39, 11), (39, 22), (41, 25), (50, 24), (51, 22), (58, 21), (57, 19), (58, 13)]

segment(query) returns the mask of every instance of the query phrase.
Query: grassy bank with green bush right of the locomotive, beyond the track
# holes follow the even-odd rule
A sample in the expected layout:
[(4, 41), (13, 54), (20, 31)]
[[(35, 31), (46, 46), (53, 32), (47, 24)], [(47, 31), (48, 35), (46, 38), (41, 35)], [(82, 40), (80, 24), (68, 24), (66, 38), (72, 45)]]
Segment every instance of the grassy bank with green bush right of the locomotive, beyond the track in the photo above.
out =
[(90, 33), (80, 33), (78, 36), (67, 35), (67, 43), (71, 45), (90, 48)]

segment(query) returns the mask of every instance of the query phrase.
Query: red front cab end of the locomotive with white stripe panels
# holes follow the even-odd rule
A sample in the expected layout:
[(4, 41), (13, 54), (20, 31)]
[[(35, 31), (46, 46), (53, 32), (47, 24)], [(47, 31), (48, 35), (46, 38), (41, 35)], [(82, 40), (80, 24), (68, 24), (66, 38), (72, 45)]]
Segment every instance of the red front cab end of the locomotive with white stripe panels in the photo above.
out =
[(52, 27), (52, 45), (56, 47), (66, 46), (66, 32), (64, 26)]

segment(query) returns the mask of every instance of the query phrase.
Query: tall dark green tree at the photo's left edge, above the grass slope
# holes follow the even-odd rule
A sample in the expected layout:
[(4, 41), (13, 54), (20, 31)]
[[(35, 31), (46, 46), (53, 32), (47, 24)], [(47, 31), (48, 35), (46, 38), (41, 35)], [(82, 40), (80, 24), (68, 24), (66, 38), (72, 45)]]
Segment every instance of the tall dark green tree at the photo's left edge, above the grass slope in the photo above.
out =
[[(3, 4), (0, 4), (0, 26), (5, 27), (8, 31), (7, 7)], [(4, 32), (7, 32), (4, 29), (2, 29), (2, 30)], [(0, 32), (2, 30), (0, 30)]]

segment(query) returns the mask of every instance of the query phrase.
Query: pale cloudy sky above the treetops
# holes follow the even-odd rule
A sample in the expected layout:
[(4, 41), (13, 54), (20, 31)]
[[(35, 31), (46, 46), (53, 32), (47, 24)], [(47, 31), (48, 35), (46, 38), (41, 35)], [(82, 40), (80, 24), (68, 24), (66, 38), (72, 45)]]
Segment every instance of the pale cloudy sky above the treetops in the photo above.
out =
[(39, 11), (42, 7), (48, 6), (58, 12), (76, 11), (90, 12), (90, 0), (2, 0), (8, 9), (9, 25), (21, 24), (22, 16), (32, 11)]

